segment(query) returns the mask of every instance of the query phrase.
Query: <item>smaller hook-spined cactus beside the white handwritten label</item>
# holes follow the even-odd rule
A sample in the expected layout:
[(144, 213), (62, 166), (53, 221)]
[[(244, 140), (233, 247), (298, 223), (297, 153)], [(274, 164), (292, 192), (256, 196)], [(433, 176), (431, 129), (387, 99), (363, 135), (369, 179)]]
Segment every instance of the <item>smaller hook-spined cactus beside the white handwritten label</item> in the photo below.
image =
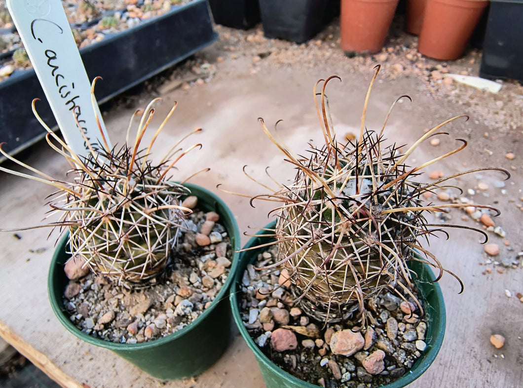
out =
[[(192, 145), (182, 152), (178, 146), (187, 135), (170, 149), (160, 164), (153, 165), (148, 158), (153, 143), (173, 114), (176, 103), (149, 146), (139, 150), (154, 114), (153, 105), (158, 100), (151, 101), (143, 111), (133, 142), (129, 142), (129, 132), (140, 110), (135, 111), (131, 118), (126, 143), (122, 147), (109, 149), (104, 138), (105, 148), (98, 151), (85, 138), (90, 151), (87, 157), (76, 155), (43, 123), (35, 109), (36, 100), (33, 101), (33, 112), (48, 131), (49, 145), (71, 163), (76, 173), (71, 182), (53, 179), (18, 161), (6, 154), (0, 144), (0, 152), (4, 156), (40, 177), (3, 167), (0, 170), (58, 189), (49, 204), (52, 208), (50, 215), (59, 213), (60, 219), (44, 226), (69, 229), (71, 259), (85, 261), (85, 265), (96, 275), (105, 276), (124, 286), (136, 282), (146, 283), (160, 275), (170, 260), (180, 231), (184, 229), (184, 220), (191, 212), (180, 206), (181, 197), (188, 195), (188, 189), (169, 181), (167, 173), (181, 157), (201, 144)], [(198, 131), (200, 129), (190, 134)], [(173, 161), (170, 161), (174, 156)]]

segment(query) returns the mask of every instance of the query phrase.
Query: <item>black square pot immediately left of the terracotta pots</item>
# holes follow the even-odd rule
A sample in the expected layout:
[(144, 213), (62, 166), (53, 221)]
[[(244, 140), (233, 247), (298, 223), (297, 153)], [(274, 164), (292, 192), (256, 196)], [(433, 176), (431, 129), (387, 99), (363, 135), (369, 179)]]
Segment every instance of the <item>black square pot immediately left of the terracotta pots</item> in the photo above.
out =
[(323, 28), (328, 0), (259, 0), (267, 38), (303, 43)]

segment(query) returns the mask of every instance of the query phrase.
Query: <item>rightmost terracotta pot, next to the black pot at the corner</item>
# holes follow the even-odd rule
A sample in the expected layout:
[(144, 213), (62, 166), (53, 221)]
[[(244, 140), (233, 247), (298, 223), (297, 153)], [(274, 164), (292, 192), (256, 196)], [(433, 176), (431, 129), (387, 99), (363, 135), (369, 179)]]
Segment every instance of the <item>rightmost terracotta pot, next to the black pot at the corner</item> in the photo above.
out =
[(427, 0), (418, 51), (441, 61), (459, 58), (487, 5), (486, 0)]

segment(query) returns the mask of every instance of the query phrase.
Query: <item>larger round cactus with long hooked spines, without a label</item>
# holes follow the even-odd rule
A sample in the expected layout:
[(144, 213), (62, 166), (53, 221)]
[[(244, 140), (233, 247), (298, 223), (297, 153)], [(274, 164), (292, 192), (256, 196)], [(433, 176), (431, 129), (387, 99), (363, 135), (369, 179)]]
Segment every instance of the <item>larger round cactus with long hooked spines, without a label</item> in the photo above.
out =
[[(436, 281), (439, 280), (447, 270), (419, 240), (440, 231), (442, 226), (463, 226), (430, 224), (425, 214), (470, 204), (426, 204), (421, 195), (441, 187), (448, 179), (479, 170), (431, 183), (419, 181), (420, 170), (461, 151), (467, 142), (458, 139), (462, 144), (456, 150), (417, 167), (405, 164), (408, 156), (424, 140), (441, 134), (438, 131), (445, 124), (466, 116), (456, 116), (437, 125), (404, 154), (400, 154), (395, 145), (384, 147), (386, 121), (394, 104), (407, 96), (394, 102), (380, 131), (367, 130), (365, 112), (378, 72), (379, 66), (368, 90), (359, 138), (354, 142), (338, 142), (329, 117), (325, 87), (331, 79), (339, 78), (337, 76), (326, 81), (321, 79), (314, 86), (325, 144), (321, 148), (310, 145), (308, 157), (294, 154), (269, 132), (263, 119), (259, 119), (270, 140), (297, 169), (290, 184), (252, 199), (281, 202), (276, 209), (278, 261), (263, 269), (285, 269), (292, 284), (293, 303), (299, 303), (305, 313), (325, 323), (355, 319), (357, 314), (356, 320), (365, 327), (366, 301), (384, 289), (395, 291), (403, 299), (403, 294), (410, 295), (417, 301), (407, 266), (411, 260), (437, 268)], [(321, 92), (316, 93), (322, 82)], [(509, 175), (499, 168), (487, 169)], [(473, 206), (497, 212), (489, 206)], [(463, 287), (461, 281), (460, 284)], [(423, 306), (418, 303), (418, 307), (423, 313)]]

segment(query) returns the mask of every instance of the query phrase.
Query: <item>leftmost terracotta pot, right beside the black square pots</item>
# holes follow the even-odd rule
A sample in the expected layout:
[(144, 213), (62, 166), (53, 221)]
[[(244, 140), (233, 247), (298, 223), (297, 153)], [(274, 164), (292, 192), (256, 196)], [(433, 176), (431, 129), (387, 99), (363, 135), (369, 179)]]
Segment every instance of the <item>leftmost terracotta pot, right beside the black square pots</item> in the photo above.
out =
[(342, 0), (341, 45), (344, 51), (379, 52), (399, 0)]

